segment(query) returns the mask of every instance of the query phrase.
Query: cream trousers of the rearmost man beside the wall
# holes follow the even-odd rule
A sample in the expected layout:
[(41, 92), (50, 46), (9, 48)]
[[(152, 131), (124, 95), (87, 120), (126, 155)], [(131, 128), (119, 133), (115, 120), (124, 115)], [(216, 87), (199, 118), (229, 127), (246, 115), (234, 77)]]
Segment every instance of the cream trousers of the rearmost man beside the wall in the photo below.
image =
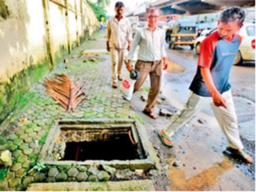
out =
[(124, 57), (126, 57), (127, 49), (110, 49), (111, 65), (112, 65), (112, 82), (117, 82), (117, 75), (121, 74), (124, 64)]

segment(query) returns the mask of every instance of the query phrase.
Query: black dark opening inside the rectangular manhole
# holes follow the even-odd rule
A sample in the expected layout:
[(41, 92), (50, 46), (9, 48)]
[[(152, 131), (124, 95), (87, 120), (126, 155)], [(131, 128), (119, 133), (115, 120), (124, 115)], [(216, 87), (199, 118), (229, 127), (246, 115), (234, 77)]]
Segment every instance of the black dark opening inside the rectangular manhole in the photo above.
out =
[(67, 142), (62, 160), (135, 160), (140, 159), (137, 144), (128, 133), (116, 133), (104, 141)]

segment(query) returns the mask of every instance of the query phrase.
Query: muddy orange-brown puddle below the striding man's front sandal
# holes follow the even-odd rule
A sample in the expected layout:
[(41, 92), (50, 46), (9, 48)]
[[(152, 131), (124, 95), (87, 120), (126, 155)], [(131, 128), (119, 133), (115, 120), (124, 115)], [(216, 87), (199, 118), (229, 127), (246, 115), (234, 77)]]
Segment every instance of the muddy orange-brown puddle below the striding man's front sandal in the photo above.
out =
[(219, 182), (218, 177), (224, 175), (233, 167), (234, 165), (227, 158), (224, 158), (222, 162), (216, 163), (215, 166), (204, 169), (204, 171), (190, 178), (186, 178), (184, 170), (171, 168), (169, 169), (170, 188), (174, 191), (209, 190)]

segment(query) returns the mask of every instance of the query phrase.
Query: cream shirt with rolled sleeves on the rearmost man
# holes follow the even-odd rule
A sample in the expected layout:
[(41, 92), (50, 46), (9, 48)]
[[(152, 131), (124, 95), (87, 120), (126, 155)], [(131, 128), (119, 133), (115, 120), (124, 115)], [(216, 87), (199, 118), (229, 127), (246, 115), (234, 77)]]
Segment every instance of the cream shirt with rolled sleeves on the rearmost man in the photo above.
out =
[(109, 41), (110, 48), (127, 49), (128, 41), (132, 40), (132, 28), (127, 18), (119, 22), (115, 18), (107, 21), (106, 41)]

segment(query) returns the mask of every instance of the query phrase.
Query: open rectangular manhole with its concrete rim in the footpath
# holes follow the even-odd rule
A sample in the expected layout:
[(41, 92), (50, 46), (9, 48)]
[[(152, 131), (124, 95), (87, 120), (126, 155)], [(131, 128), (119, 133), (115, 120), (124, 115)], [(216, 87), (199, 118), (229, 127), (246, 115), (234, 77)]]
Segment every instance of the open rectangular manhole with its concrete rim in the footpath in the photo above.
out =
[(39, 160), (46, 165), (110, 165), (153, 169), (155, 151), (144, 127), (126, 120), (63, 120), (52, 127)]

